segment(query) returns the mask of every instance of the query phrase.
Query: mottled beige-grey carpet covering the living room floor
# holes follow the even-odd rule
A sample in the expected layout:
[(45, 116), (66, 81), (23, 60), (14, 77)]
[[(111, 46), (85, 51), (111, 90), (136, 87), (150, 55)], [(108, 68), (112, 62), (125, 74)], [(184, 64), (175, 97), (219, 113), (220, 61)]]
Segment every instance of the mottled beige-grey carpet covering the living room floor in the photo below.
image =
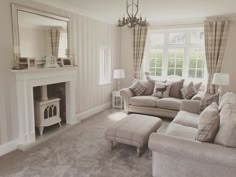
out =
[[(151, 151), (136, 157), (136, 149), (118, 144), (112, 152), (104, 131), (125, 116), (112, 109), (26, 152), (14, 151), (0, 158), (1, 177), (151, 177)], [(164, 121), (160, 131), (165, 131)]]

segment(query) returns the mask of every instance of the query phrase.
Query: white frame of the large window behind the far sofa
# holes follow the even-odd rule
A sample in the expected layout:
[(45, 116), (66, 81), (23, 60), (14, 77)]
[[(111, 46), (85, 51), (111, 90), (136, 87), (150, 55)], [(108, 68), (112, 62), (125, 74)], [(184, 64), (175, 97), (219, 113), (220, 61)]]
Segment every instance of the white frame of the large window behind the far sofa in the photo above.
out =
[[(178, 49), (178, 48), (183, 48), (184, 49), (184, 60), (183, 60), (183, 73), (182, 73), (182, 78), (184, 79), (191, 79), (191, 80), (196, 80), (196, 81), (206, 81), (208, 74), (207, 74), (207, 66), (205, 64), (205, 69), (204, 69), (204, 77), (201, 78), (189, 78), (188, 77), (188, 70), (189, 70), (189, 60), (190, 60), (190, 54), (189, 51), (191, 48), (199, 48), (205, 50), (205, 46), (201, 44), (192, 44), (190, 39), (191, 32), (194, 31), (204, 31), (203, 27), (190, 27), (190, 28), (174, 28), (174, 29), (158, 29), (158, 30), (150, 30), (148, 32), (148, 40), (147, 40), (147, 46), (146, 46), (146, 51), (145, 51), (145, 57), (144, 57), (144, 68), (145, 72), (150, 72), (149, 71), (149, 64), (151, 60), (151, 41), (150, 41), (150, 35), (151, 33), (164, 33), (164, 44), (156, 45), (157, 49), (162, 49), (164, 54), (163, 54), (163, 61), (162, 61), (162, 76), (152, 76), (154, 79), (168, 79), (168, 50), (169, 49)], [(186, 33), (186, 42), (184, 44), (169, 44), (169, 34), (173, 32), (185, 32)]]

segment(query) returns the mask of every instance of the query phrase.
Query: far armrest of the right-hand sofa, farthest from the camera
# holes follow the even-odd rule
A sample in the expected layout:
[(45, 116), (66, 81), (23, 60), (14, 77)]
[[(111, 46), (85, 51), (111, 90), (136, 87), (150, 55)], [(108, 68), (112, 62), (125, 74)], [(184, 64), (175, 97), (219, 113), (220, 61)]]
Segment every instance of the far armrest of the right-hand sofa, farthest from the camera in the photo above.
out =
[(183, 100), (180, 106), (181, 111), (200, 113), (200, 101), (198, 100)]

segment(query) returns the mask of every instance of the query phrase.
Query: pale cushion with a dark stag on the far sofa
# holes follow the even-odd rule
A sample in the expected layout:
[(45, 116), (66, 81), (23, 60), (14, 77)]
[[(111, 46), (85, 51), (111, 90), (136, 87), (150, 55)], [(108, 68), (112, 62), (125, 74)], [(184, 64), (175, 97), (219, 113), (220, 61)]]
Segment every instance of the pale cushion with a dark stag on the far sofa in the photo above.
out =
[(171, 85), (167, 83), (156, 82), (152, 95), (159, 98), (169, 97), (170, 86)]

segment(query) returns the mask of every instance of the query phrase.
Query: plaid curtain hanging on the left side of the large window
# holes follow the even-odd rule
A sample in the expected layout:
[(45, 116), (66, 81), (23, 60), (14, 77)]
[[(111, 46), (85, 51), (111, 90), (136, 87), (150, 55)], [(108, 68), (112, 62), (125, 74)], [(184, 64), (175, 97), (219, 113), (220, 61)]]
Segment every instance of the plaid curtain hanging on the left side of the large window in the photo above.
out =
[(147, 27), (136, 25), (133, 28), (133, 59), (134, 59), (134, 78), (142, 78), (142, 63), (147, 39)]

